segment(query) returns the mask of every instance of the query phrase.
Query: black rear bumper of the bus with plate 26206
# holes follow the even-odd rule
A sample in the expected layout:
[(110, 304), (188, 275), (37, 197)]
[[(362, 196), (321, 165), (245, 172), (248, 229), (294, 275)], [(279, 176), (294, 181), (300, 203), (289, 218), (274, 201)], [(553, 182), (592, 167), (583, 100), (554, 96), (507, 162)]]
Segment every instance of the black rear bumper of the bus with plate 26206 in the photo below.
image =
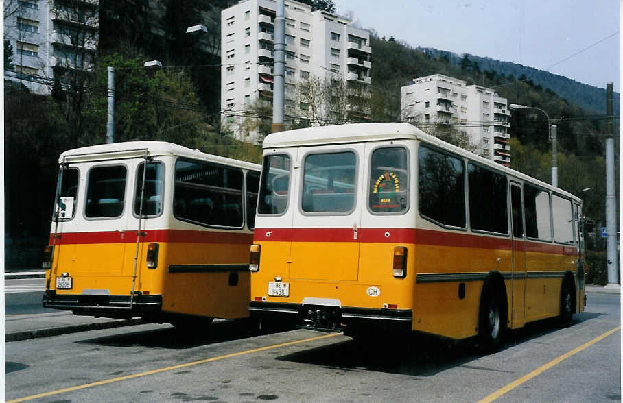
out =
[(71, 310), (74, 315), (130, 319), (161, 313), (162, 295), (134, 295), (130, 304), (130, 295), (57, 294), (48, 290), (43, 294), (43, 307)]

